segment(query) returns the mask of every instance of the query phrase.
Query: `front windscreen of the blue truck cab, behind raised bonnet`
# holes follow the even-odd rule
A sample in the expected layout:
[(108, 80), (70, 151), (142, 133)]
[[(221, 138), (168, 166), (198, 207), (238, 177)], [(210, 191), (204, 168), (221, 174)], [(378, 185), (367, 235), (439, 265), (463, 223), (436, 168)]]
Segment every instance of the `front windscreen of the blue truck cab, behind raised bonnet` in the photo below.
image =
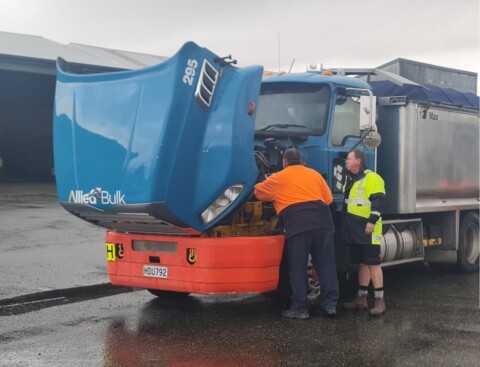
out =
[(264, 83), (260, 90), (255, 132), (321, 135), (330, 104), (325, 84)]

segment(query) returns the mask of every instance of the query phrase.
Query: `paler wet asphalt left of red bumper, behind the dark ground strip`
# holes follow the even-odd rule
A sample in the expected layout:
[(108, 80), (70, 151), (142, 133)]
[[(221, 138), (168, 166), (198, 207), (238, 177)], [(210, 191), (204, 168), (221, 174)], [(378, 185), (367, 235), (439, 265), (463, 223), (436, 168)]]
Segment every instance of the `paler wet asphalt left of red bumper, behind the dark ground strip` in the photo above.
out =
[(0, 183), (0, 299), (108, 282), (104, 233), (67, 213), (53, 184)]

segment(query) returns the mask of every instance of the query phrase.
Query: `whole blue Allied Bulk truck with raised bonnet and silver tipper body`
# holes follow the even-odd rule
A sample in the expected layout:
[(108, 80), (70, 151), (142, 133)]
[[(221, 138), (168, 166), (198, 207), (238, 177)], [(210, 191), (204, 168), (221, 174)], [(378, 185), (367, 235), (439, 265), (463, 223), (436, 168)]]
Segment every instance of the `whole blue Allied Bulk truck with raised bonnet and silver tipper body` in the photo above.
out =
[[(289, 147), (326, 178), (334, 216), (346, 154), (365, 151), (387, 188), (383, 266), (478, 270), (478, 96), (381, 70), (264, 77), (234, 63), (193, 42), (134, 71), (81, 75), (58, 61), (58, 197), (106, 228), (113, 284), (159, 296), (275, 290), (284, 237), (252, 191)], [(348, 271), (342, 248), (337, 239)]]

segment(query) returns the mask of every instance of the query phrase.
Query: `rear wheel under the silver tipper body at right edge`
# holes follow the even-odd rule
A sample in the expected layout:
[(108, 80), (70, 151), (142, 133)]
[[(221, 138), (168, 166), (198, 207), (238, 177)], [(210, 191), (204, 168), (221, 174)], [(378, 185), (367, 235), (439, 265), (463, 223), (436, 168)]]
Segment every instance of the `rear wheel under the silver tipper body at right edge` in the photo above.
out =
[(467, 213), (460, 223), (458, 238), (457, 263), (458, 271), (468, 273), (478, 270), (478, 254), (480, 252), (478, 213)]

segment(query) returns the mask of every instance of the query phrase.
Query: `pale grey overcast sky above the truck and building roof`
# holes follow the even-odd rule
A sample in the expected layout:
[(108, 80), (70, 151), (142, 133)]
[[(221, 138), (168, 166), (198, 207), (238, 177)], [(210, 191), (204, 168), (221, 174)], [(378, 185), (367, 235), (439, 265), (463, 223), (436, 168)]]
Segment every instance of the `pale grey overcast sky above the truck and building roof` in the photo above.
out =
[(480, 72), (479, 0), (0, 0), (0, 31), (171, 56), (194, 41), (240, 66), (304, 71), (396, 58)]

